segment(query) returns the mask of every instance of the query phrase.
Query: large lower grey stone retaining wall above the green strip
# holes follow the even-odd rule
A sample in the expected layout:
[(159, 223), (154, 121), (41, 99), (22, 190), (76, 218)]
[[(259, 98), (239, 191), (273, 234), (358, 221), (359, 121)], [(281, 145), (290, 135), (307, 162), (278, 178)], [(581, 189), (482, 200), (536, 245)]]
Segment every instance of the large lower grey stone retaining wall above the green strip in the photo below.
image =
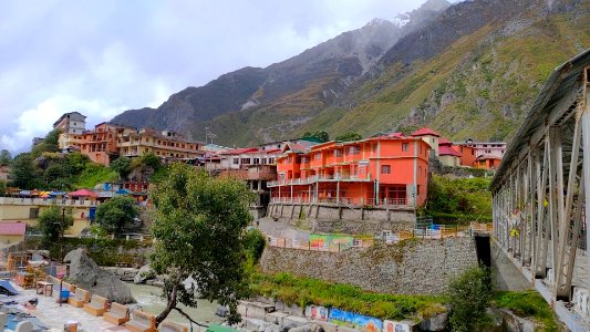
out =
[(265, 273), (289, 272), (398, 294), (441, 294), (451, 277), (477, 263), (473, 238), (410, 240), (342, 252), (267, 247)]

